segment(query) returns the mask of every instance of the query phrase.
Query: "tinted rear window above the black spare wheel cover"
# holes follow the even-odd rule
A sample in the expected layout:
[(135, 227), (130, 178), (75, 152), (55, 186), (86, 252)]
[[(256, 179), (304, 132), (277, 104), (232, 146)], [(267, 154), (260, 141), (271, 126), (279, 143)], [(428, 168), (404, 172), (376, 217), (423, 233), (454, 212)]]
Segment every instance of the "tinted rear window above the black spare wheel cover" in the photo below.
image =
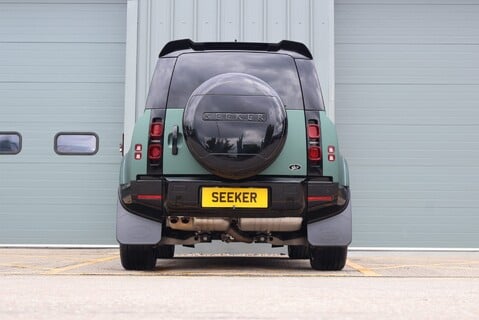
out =
[(284, 54), (256, 52), (185, 53), (178, 57), (171, 80), (168, 108), (184, 108), (204, 81), (222, 73), (247, 73), (267, 82), (286, 109), (303, 109), (294, 59)]

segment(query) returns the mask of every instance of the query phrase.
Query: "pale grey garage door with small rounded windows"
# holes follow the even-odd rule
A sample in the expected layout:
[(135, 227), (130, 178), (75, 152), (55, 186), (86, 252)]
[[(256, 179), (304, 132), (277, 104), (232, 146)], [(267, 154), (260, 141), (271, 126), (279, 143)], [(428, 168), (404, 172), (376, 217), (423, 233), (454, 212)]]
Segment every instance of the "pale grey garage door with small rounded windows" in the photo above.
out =
[(125, 21), (126, 1), (0, 1), (0, 244), (115, 243)]

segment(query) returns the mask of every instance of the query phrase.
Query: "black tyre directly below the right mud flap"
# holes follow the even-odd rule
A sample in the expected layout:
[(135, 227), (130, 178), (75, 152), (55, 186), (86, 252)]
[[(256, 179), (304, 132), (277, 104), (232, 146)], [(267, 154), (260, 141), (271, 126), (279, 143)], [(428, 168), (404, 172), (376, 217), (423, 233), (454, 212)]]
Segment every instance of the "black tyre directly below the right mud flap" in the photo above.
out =
[(309, 260), (315, 270), (339, 271), (344, 268), (348, 247), (309, 247)]

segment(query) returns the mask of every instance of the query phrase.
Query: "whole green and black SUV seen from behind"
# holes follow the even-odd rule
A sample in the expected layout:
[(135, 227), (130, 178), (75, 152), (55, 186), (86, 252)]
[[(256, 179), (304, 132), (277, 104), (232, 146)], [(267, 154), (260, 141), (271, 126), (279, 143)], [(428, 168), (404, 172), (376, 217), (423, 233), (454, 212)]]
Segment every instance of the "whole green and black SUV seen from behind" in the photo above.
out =
[(130, 145), (117, 212), (125, 269), (213, 240), (344, 267), (348, 166), (305, 45), (169, 42)]

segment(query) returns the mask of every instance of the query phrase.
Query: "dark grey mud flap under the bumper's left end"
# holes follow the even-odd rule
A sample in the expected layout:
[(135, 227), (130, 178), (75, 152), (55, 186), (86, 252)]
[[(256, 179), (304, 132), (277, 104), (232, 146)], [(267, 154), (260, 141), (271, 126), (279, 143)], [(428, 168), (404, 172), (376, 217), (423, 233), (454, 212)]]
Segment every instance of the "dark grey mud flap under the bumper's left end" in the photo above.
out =
[(161, 223), (134, 215), (118, 201), (116, 239), (121, 244), (157, 244), (161, 240)]

